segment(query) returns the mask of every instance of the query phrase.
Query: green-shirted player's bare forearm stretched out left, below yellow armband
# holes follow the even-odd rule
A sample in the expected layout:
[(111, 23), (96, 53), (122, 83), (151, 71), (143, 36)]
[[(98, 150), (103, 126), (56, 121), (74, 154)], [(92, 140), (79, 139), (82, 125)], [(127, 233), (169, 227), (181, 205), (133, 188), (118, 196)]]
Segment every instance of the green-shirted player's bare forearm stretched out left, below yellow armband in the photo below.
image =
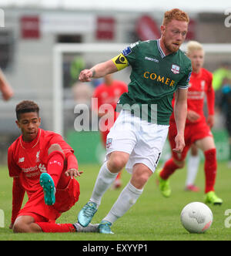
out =
[(92, 78), (100, 78), (117, 71), (117, 67), (115, 66), (114, 62), (112, 62), (112, 59), (110, 59), (106, 62), (96, 64), (92, 67), (92, 69), (82, 70), (82, 72), (79, 74), (79, 81), (90, 82)]

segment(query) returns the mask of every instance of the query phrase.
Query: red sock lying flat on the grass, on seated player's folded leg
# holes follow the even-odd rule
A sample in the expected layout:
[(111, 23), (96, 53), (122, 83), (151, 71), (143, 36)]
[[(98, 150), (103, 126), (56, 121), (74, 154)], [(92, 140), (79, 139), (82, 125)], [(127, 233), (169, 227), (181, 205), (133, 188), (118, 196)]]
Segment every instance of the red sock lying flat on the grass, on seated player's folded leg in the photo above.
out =
[(35, 222), (44, 233), (69, 233), (76, 232), (72, 224), (56, 224), (50, 222)]

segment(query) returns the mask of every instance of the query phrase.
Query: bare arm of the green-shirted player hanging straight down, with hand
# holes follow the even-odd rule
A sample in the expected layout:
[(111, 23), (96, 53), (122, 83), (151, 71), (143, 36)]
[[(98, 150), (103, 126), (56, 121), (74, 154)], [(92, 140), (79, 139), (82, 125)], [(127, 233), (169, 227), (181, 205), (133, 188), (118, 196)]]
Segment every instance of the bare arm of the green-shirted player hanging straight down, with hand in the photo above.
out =
[(182, 153), (185, 147), (184, 130), (186, 126), (187, 116), (187, 94), (188, 89), (177, 89), (176, 101), (174, 106), (174, 116), (176, 121), (177, 135), (175, 138), (176, 148), (173, 149), (177, 153)]

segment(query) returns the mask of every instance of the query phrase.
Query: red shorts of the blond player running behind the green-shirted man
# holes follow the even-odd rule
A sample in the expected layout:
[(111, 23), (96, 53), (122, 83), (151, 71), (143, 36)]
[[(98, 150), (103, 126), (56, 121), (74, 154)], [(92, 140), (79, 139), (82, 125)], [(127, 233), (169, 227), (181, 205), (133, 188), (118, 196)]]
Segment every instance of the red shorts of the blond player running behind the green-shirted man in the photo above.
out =
[[(171, 149), (174, 149), (176, 147), (176, 143), (175, 143), (176, 134), (177, 134), (176, 123), (170, 122), (169, 143), (170, 143)], [(202, 140), (206, 136), (213, 136), (209, 126), (206, 123), (206, 120), (203, 120), (199, 123), (186, 124), (186, 128), (185, 128), (186, 147), (184, 147), (182, 153), (176, 153), (172, 151), (172, 157), (179, 161), (184, 160), (189, 151), (189, 148), (192, 146), (192, 143), (195, 143), (196, 140)]]

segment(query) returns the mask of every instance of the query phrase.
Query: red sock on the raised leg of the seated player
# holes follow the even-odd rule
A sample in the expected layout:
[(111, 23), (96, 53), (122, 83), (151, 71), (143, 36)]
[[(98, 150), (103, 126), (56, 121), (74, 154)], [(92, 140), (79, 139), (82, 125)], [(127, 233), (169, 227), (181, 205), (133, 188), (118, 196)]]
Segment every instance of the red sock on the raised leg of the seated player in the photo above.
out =
[(47, 172), (51, 175), (55, 187), (57, 186), (64, 167), (64, 155), (61, 151), (55, 150), (49, 154)]

